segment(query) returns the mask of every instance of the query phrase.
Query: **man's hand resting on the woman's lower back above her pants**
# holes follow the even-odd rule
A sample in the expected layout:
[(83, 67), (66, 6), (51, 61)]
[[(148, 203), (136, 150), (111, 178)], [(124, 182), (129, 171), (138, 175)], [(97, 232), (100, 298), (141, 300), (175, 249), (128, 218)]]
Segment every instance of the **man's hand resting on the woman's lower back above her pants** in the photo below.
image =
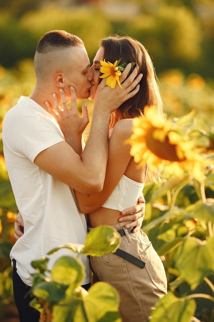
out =
[(119, 218), (119, 222), (132, 221), (131, 223), (126, 224), (125, 228), (128, 229), (128, 228), (135, 227), (133, 229), (133, 233), (135, 233), (142, 226), (144, 214), (145, 214), (145, 199), (142, 193), (138, 200), (138, 204), (136, 206), (127, 208), (122, 211), (123, 217)]

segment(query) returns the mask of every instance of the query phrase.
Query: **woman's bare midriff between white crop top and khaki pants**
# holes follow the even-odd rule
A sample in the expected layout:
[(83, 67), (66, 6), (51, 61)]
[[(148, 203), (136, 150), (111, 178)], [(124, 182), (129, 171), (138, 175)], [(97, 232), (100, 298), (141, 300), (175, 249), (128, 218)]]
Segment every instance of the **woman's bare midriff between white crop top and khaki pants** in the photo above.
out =
[(100, 225), (116, 225), (121, 216), (121, 211), (101, 207), (88, 214), (88, 224), (92, 228)]

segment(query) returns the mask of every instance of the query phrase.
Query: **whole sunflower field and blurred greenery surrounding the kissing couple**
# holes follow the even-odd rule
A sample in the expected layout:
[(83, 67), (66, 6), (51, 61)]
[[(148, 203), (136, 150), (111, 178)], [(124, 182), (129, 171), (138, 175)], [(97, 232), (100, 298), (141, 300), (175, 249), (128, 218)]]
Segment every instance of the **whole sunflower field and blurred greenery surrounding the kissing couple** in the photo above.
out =
[[(142, 229), (151, 240), (164, 263), (168, 294), (151, 309), (150, 322), (214, 321), (214, 23), (211, 0), (177, 1), (15, 1), (2, 2), (0, 12), (0, 124), (6, 112), (21, 96), (30, 95), (35, 76), (33, 55), (37, 40), (51, 29), (65, 29), (84, 40), (89, 58), (93, 59), (101, 38), (110, 33), (128, 34), (142, 42), (154, 61), (164, 102), (164, 119), (152, 109), (145, 110), (144, 122), (135, 120), (130, 138), (132, 155), (138, 162), (160, 169), (162, 180), (148, 182), (143, 190), (146, 207)], [(105, 4), (104, 4), (105, 3)], [(8, 7), (7, 7), (8, 6)], [(93, 22), (93, 23), (92, 23)], [(89, 37), (90, 36), (90, 37)], [(82, 101), (79, 107), (81, 111)], [(89, 114), (93, 105), (87, 102)], [(90, 125), (85, 132), (87, 139)], [(149, 134), (149, 135), (148, 135)], [(15, 204), (3, 145), (0, 140), (0, 320), (16, 322), (13, 301), (10, 249), (15, 242)], [(109, 232), (111, 234), (112, 232)], [(105, 232), (103, 234), (105, 237)], [(115, 236), (115, 245), (117, 243)], [(93, 236), (89, 236), (81, 252), (93, 255)], [(105, 238), (100, 246), (112, 249)], [(75, 249), (75, 245), (70, 245)], [(51, 249), (50, 249), (51, 252)], [(46, 261), (34, 262), (36, 300), (42, 303), (49, 318), (63, 322), (71, 312), (61, 312), (57, 304), (65, 299), (65, 280), (58, 279), (60, 298), (54, 288), (38, 287)], [(53, 271), (58, 276), (59, 263)], [(83, 267), (72, 259), (64, 259), (65, 271), (75, 267), (79, 279)], [(62, 266), (62, 265), (61, 265)], [(66, 268), (67, 267), (67, 268)], [(69, 281), (70, 282), (70, 281)], [(72, 281), (74, 282), (74, 281)], [(55, 283), (55, 281), (54, 281)], [(94, 285), (95, 286), (95, 285)], [(49, 290), (53, 302), (43, 298), (41, 290)], [(102, 285), (89, 294), (78, 289), (79, 314), (87, 306), (89, 296), (94, 305), (100, 301), (102, 314), (91, 312), (93, 321), (120, 321), (118, 295)], [(71, 290), (71, 293), (74, 290)], [(75, 291), (76, 292), (76, 291)], [(72, 293), (73, 294), (73, 293)], [(76, 293), (74, 294), (76, 296)], [(102, 297), (103, 296), (103, 297)], [(106, 297), (105, 297), (106, 296)], [(106, 302), (106, 298), (109, 302)], [(106, 302), (106, 305), (104, 303)], [(50, 311), (48, 311), (50, 309)], [(90, 308), (88, 307), (88, 310)], [(113, 313), (110, 312), (113, 310)], [(47, 312), (48, 311), (48, 312)], [(43, 311), (44, 312), (44, 311)], [(82, 313), (81, 313), (82, 312)], [(110, 314), (111, 313), (111, 314)], [(84, 313), (85, 314), (85, 313)], [(81, 321), (87, 321), (82, 316)], [(76, 318), (76, 319), (75, 319)], [(72, 321), (77, 321), (73, 315)], [(84, 319), (85, 318), (85, 319)], [(48, 321), (47, 315), (41, 320)], [(69, 319), (68, 319), (69, 320)]]

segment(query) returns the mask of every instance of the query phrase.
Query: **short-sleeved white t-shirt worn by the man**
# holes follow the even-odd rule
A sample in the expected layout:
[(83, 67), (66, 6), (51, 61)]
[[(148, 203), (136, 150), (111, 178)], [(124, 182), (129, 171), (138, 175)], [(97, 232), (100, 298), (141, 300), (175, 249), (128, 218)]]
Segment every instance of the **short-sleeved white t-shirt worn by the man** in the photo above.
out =
[[(38, 153), (61, 141), (64, 137), (55, 119), (28, 97), (21, 96), (4, 118), (4, 156), (24, 220), (24, 235), (12, 247), (10, 257), (29, 286), (35, 273), (31, 261), (62, 244), (84, 244), (87, 234), (85, 215), (77, 208), (72, 189), (34, 164)], [(48, 268), (63, 255), (76, 257), (69, 249), (61, 249), (49, 256)], [(90, 282), (89, 263), (86, 256), (79, 259), (86, 267), (83, 285)]]

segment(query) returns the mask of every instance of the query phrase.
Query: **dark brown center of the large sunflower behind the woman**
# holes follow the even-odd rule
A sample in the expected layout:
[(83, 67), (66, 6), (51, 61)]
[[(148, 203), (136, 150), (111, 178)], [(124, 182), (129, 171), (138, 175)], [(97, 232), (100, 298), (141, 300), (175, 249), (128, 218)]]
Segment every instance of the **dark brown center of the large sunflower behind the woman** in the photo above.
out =
[(169, 143), (168, 137), (166, 137), (164, 142), (156, 140), (153, 138), (152, 133), (154, 129), (150, 129), (146, 135), (146, 145), (147, 148), (163, 160), (169, 160), (170, 162), (182, 162), (185, 158), (180, 159), (176, 153), (176, 145), (171, 145)]

